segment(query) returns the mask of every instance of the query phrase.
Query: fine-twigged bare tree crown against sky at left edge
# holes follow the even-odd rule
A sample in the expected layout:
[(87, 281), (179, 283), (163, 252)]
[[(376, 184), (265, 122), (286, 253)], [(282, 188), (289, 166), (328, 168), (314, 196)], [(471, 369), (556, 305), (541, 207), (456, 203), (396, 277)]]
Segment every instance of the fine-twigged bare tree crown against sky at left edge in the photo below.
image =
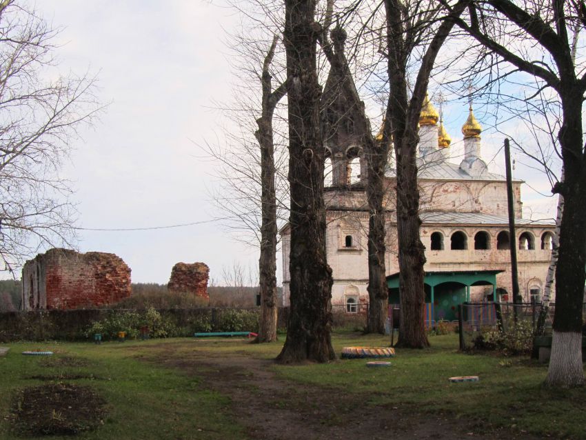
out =
[(94, 79), (48, 79), (57, 31), (19, 3), (0, 3), (0, 256), (11, 272), (41, 247), (71, 246), (72, 190), (59, 169), (101, 109)]

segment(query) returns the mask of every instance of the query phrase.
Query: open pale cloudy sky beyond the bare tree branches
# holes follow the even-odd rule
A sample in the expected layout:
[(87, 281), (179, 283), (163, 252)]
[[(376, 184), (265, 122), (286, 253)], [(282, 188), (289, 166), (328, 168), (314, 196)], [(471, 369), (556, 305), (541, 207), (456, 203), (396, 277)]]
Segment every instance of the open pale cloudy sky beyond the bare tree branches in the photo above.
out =
[[(78, 250), (119, 255), (132, 269), (133, 282), (166, 283), (179, 261), (207, 263), (219, 284), (223, 272), (235, 266), (254, 277), (257, 250), (212, 221), (219, 215), (210, 200), (216, 164), (201, 148), (225, 127), (213, 106), (232, 99), (234, 72), (225, 41), (227, 30), (239, 23), (237, 14), (197, 0), (43, 0), (37, 10), (61, 28), (59, 69), (97, 74), (99, 99), (108, 103), (99, 121), (81, 132), (63, 168), (63, 177), (73, 181), (77, 226), (203, 222), (145, 231), (80, 230)], [(463, 154), (459, 129), (466, 117), (465, 104), (445, 112), (456, 163)], [(483, 133), (483, 157), (492, 171), (504, 174), (497, 154), (502, 139)], [(516, 177), (549, 192), (547, 181), (529, 169), (519, 168)], [(540, 218), (554, 206), (553, 199), (527, 186), (523, 198)], [(279, 279), (280, 265), (279, 259)]]

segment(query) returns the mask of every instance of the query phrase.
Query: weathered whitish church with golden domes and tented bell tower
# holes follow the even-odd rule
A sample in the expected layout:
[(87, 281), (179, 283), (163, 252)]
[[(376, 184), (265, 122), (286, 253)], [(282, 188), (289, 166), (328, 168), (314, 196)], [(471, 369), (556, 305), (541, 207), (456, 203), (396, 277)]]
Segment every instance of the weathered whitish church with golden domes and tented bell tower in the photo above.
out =
[[(325, 95), (327, 97), (327, 86)], [(334, 102), (335, 101), (335, 102)], [(352, 130), (352, 112), (336, 114), (344, 103), (334, 98), (329, 110), (336, 119), (326, 147), (332, 161), (332, 186), (325, 188), (327, 263), (332, 268), (332, 305), (358, 312), (368, 301), (368, 204), (365, 161)], [(331, 116), (331, 115), (330, 115)], [(451, 139), (439, 114), (425, 99), (419, 121), (418, 184), (420, 187), (421, 241), (425, 246), (425, 272), (494, 271), (496, 286), (472, 286), (467, 300), (512, 301), (510, 246), (516, 246), (518, 279), (523, 301), (539, 301), (551, 256), (553, 221), (523, 218), (521, 181), (513, 181), (516, 237), (509, 237), (505, 177), (489, 172), (481, 157), (481, 126), (472, 108), (462, 132), (465, 154), (460, 163), (449, 161)], [(390, 153), (392, 157), (392, 153)], [(361, 180), (350, 181), (349, 163), (361, 162)], [(392, 161), (385, 176), (387, 275), (398, 272), (396, 179)], [(283, 252), (283, 304), (289, 304), (290, 228), (281, 229)], [(433, 294), (432, 294), (433, 296)], [(455, 298), (455, 297), (454, 297)], [(426, 301), (430, 301), (427, 299)], [(433, 302), (433, 300), (432, 300)]]

